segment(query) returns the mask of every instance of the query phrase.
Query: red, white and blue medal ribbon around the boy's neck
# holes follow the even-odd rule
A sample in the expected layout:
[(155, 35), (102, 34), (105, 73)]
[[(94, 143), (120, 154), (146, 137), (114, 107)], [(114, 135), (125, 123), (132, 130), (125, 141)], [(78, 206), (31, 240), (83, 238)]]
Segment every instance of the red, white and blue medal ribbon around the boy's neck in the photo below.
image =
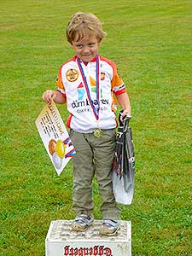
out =
[(84, 81), (84, 87), (85, 87), (85, 90), (86, 90), (86, 93), (87, 93), (88, 100), (90, 102), (90, 107), (92, 108), (92, 111), (93, 111), (93, 113), (96, 117), (96, 120), (98, 120), (99, 119), (99, 110), (100, 110), (99, 57), (98, 57), (98, 55), (96, 55), (96, 101), (98, 103), (98, 108), (95, 107), (93, 101), (91, 100), (89, 85), (87, 84), (87, 79), (84, 76), (84, 70), (83, 70), (83, 67), (81, 65), (81, 60), (80, 60), (79, 57), (78, 57), (78, 66), (79, 66), (79, 70), (80, 70), (82, 79)]

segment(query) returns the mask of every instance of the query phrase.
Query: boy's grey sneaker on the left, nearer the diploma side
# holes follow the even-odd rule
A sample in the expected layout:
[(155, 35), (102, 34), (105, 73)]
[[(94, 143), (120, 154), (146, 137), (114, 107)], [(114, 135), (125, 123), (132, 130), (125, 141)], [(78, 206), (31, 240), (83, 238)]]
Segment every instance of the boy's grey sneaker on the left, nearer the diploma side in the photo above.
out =
[(93, 224), (93, 218), (85, 214), (80, 214), (73, 220), (72, 230), (81, 232), (86, 231), (91, 224)]

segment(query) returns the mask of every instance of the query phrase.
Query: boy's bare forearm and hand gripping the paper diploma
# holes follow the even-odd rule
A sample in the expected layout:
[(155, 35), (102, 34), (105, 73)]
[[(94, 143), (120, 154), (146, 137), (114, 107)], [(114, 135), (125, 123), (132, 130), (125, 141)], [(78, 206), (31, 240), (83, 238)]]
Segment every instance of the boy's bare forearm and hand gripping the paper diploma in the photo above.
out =
[(63, 104), (66, 102), (66, 97), (61, 94), (58, 90), (45, 90), (43, 96), (43, 101), (49, 103), (53, 100), (56, 103)]

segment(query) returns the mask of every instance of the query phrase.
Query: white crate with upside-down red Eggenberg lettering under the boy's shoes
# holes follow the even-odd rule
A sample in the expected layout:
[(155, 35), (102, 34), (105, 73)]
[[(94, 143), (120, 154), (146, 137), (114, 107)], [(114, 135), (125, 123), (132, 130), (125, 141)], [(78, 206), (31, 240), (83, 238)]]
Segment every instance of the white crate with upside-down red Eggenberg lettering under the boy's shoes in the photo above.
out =
[(72, 231), (72, 220), (50, 223), (46, 256), (131, 256), (131, 221), (121, 221), (116, 236), (99, 236), (102, 220), (85, 232)]

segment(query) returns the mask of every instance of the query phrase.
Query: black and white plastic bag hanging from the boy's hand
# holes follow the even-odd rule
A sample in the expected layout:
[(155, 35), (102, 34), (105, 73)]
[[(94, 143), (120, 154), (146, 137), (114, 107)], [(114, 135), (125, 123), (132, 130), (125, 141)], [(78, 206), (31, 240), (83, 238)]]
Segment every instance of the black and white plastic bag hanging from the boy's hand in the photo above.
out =
[(115, 200), (124, 205), (131, 205), (134, 193), (135, 154), (129, 127), (130, 119), (131, 117), (127, 116), (122, 123), (119, 118), (113, 160), (113, 193)]

